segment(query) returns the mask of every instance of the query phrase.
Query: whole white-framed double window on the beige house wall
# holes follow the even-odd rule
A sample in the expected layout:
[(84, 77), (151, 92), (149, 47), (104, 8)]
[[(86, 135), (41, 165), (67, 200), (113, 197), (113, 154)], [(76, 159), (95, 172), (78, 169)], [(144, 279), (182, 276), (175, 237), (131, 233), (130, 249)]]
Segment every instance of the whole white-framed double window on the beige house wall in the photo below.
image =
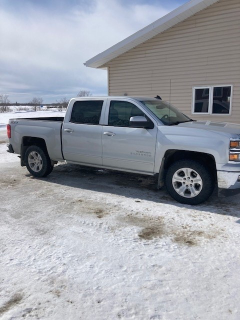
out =
[(232, 85), (193, 87), (192, 113), (230, 114)]

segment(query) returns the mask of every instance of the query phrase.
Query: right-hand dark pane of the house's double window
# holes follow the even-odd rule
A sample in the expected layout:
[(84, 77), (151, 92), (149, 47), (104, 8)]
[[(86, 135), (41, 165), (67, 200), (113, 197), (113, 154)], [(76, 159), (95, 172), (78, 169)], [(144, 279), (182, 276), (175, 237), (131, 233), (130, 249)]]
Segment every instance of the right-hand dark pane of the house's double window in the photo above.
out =
[(231, 100), (230, 86), (215, 86), (213, 88), (213, 114), (229, 114)]

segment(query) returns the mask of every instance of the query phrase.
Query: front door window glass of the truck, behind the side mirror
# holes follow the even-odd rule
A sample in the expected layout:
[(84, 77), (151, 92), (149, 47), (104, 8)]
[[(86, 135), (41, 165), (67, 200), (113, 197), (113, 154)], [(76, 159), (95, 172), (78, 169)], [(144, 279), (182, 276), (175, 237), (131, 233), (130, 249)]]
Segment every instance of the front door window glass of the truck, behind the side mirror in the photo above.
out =
[(144, 116), (144, 113), (134, 104), (126, 101), (111, 101), (108, 124), (114, 126), (129, 126), (131, 116)]

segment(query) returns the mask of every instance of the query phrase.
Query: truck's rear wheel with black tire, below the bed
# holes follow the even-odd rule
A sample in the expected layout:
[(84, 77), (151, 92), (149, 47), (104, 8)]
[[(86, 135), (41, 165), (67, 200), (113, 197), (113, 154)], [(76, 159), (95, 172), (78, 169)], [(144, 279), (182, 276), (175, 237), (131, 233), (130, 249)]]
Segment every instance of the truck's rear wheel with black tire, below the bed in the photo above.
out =
[[(34, 154), (38, 159), (36, 160), (36, 164), (35, 162), (33, 162), (35, 161)], [(42, 149), (37, 145), (31, 145), (26, 149), (25, 163), (26, 163), (27, 170), (30, 172), (30, 174), (36, 177), (46, 176), (49, 173), (51, 173), (53, 169), (53, 165), (51, 164), (51, 160), (49, 158), (47, 150)], [(36, 165), (35, 169), (34, 169), (34, 165)]]

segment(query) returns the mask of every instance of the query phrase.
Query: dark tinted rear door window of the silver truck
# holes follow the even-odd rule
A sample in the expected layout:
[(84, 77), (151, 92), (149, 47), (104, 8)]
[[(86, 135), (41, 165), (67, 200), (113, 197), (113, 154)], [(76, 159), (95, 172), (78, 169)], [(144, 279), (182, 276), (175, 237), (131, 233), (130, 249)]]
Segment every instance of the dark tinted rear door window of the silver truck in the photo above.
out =
[(99, 124), (103, 101), (76, 101), (71, 111), (70, 122)]

